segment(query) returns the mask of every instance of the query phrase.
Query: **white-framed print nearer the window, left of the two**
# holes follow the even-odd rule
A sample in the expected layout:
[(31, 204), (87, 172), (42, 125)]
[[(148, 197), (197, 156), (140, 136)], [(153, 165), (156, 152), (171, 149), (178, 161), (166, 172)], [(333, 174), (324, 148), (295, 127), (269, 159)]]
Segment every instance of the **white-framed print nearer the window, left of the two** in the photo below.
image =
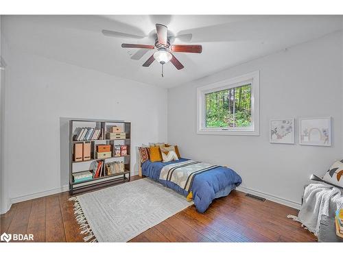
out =
[(271, 119), (270, 143), (294, 144), (294, 119)]

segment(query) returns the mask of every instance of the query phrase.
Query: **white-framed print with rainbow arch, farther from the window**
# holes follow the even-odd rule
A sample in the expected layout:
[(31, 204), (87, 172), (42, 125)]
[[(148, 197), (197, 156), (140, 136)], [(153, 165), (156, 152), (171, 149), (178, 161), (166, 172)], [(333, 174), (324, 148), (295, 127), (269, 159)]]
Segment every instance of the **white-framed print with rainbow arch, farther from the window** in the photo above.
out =
[(299, 145), (331, 146), (331, 117), (300, 118)]

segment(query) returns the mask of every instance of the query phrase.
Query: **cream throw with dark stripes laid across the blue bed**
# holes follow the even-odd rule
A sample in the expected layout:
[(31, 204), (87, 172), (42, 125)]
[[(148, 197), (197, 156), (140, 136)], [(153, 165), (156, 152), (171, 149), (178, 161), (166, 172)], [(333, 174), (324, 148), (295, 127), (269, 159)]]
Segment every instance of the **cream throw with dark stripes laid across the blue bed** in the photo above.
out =
[(185, 189), (185, 191), (190, 192), (196, 175), (211, 171), (216, 167), (219, 166), (199, 162), (197, 160), (187, 160), (185, 162), (169, 164), (162, 168), (160, 180), (171, 181), (180, 186), (180, 188)]

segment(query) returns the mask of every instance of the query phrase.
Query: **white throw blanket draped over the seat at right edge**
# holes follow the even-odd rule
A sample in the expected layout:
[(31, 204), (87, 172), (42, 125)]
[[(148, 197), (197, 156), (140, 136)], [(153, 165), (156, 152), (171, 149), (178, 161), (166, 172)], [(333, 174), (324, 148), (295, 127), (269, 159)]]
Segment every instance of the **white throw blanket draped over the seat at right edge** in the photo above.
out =
[(322, 215), (333, 217), (338, 208), (343, 208), (343, 193), (340, 189), (328, 184), (309, 184), (305, 188), (303, 206), (298, 217), (294, 215), (287, 217), (301, 222), (318, 236)]

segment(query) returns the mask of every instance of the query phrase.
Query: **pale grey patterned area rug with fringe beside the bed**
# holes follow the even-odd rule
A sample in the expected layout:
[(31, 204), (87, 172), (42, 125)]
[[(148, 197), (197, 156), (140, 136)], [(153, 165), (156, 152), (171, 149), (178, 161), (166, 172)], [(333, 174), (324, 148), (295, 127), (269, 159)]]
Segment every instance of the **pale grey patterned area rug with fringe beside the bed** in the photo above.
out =
[(127, 242), (193, 204), (148, 178), (69, 200), (86, 242)]

